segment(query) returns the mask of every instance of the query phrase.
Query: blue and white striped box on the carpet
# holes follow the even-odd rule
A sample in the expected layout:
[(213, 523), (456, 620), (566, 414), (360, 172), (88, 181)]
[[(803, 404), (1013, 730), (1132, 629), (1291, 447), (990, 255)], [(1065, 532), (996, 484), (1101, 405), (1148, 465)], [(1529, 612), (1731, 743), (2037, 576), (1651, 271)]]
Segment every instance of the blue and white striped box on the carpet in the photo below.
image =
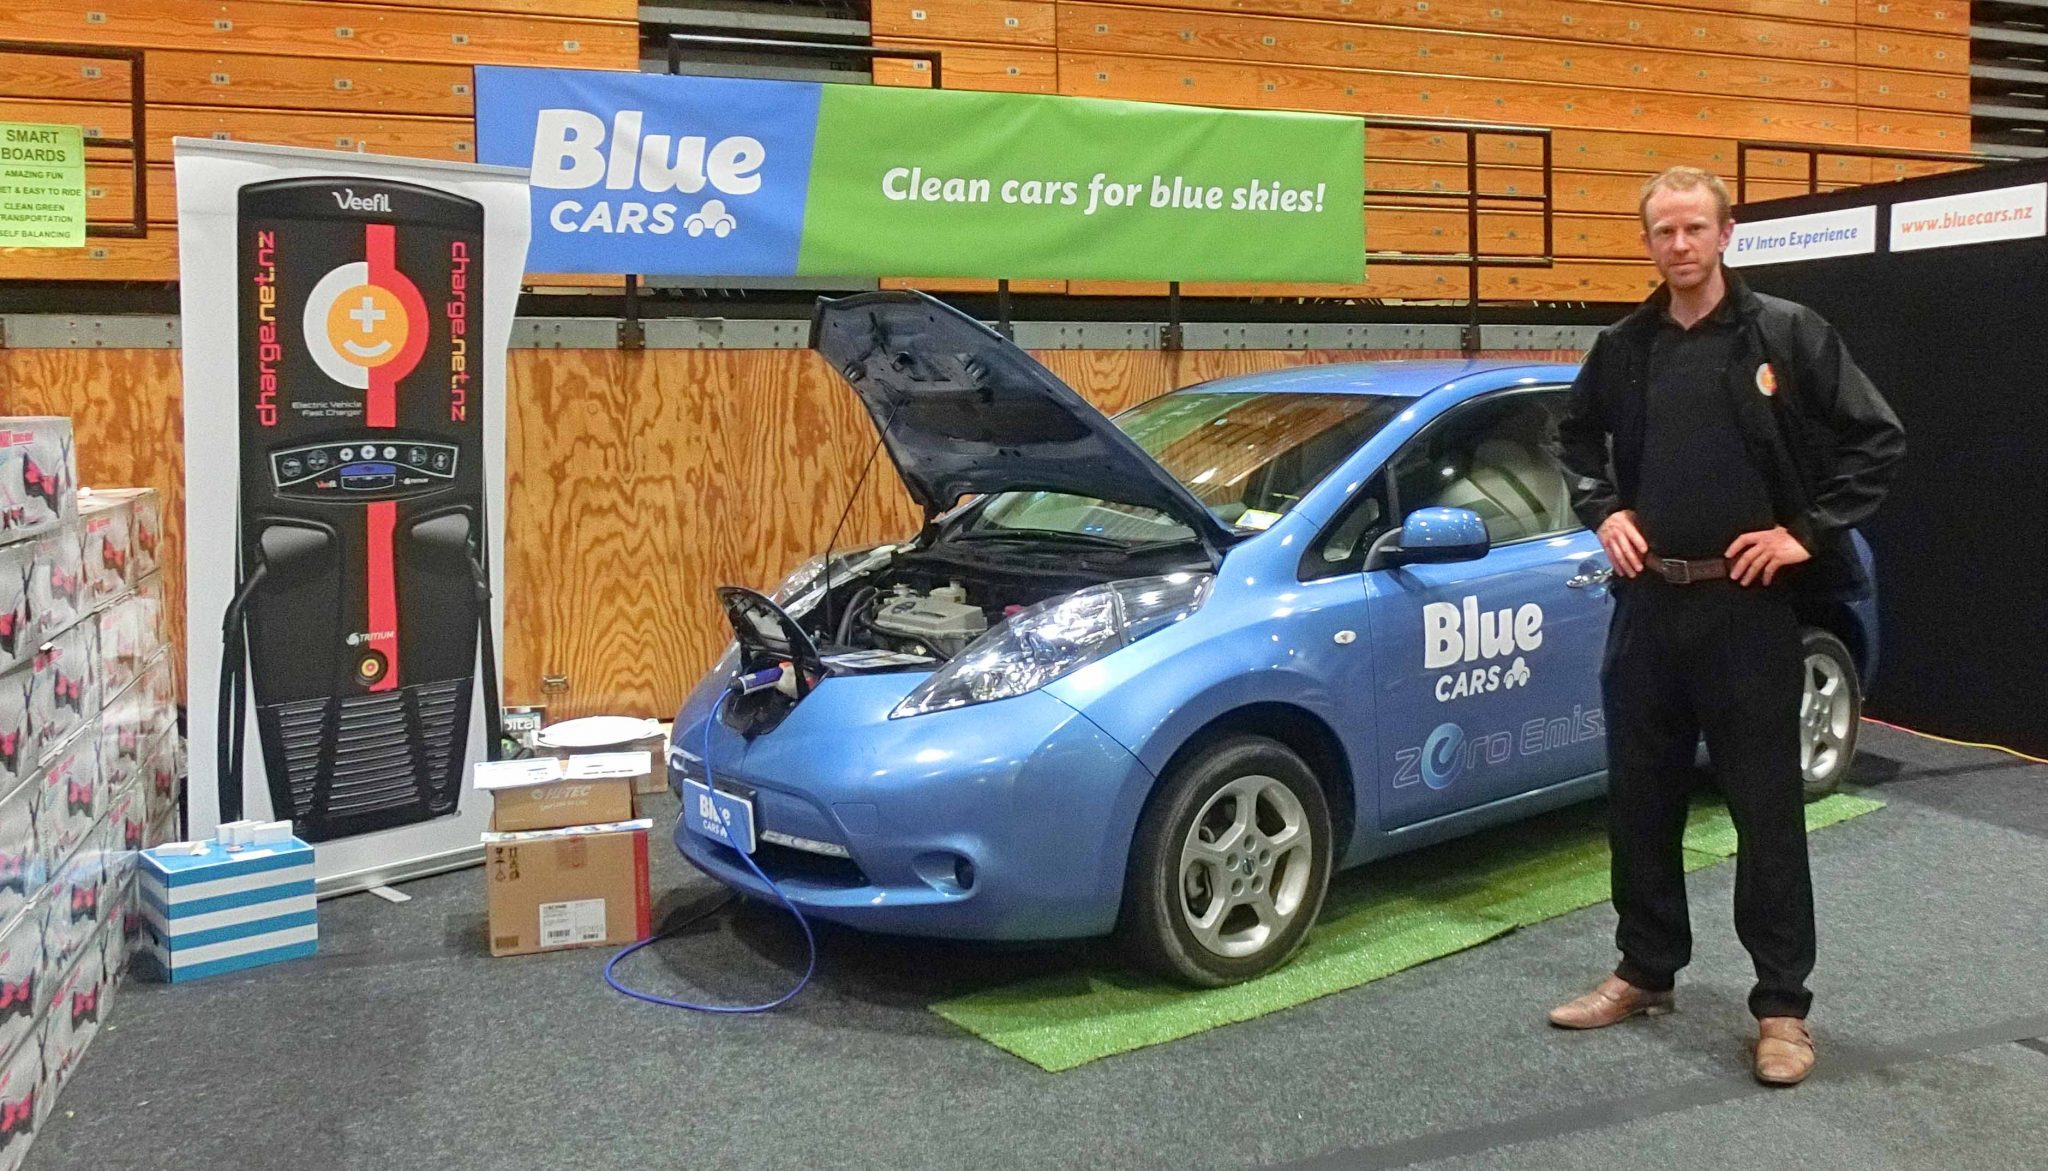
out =
[(143, 850), (141, 905), (147, 944), (137, 962), (160, 981), (311, 956), (313, 848), (293, 837), (236, 852), (217, 841), (205, 854)]

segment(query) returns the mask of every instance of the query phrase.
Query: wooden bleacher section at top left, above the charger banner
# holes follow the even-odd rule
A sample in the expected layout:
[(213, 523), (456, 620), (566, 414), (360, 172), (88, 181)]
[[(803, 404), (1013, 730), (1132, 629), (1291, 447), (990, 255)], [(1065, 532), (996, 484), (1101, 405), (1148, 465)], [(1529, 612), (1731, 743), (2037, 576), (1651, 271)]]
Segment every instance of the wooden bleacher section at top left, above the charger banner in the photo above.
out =
[[(176, 280), (170, 139), (473, 160), (473, 63), (631, 70), (637, 0), (150, 0), (0, 8), (0, 39), (145, 49), (150, 233), (0, 250), (0, 278)], [(0, 121), (129, 135), (129, 66), (8, 55)], [(127, 223), (125, 151), (90, 151), (88, 219)]]

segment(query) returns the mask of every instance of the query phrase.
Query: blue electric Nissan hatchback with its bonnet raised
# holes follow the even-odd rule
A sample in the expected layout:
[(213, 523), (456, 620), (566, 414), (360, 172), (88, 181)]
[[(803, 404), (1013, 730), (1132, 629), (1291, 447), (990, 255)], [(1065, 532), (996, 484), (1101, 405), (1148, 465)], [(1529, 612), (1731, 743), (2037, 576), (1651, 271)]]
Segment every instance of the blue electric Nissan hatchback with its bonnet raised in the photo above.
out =
[[(1114, 422), (915, 293), (819, 307), (924, 528), (725, 590), (676, 845), (915, 936), (1284, 962), (1329, 874), (1597, 794), (1612, 567), (1546, 454), (1575, 368), (1300, 366)], [(1862, 549), (1868, 561), (1868, 551)], [(1806, 614), (1806, 784), (1847, 772), (1874, 600)]]

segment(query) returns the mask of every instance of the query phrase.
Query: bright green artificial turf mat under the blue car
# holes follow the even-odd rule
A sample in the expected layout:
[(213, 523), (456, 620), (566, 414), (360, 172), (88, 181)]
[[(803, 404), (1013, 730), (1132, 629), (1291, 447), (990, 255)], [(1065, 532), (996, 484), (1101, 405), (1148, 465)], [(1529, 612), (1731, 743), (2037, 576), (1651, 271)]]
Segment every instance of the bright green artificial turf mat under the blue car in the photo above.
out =
[[(1821, 829), (1872, 809), (1882, 803), (1835, 794), (1806, 807), (1806, 825)], [(1729, 813), (1696, 807), (1686, 870), (1733, 856)], [(1565, 811), (1339, 874), (1309, 944), (1257, 981), (1196, 991), (1102, 968), (952, 997), (932, 1011), (1059, 1073), (1327, 997), (1606, 901), (1606, 831), (1583, 811)]]

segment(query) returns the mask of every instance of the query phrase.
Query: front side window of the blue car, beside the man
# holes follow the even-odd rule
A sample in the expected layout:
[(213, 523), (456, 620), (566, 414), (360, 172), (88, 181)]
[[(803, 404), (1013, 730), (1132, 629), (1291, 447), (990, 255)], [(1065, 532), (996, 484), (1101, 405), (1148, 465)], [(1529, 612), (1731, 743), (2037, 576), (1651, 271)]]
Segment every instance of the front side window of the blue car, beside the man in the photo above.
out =
[(1393, 506), (1466, 508), (1493, 545), (1579, 528), (1571, 489), (1550, 457), (1565, 391), (1511, 391), (1460, 405), (1389, 463)]

